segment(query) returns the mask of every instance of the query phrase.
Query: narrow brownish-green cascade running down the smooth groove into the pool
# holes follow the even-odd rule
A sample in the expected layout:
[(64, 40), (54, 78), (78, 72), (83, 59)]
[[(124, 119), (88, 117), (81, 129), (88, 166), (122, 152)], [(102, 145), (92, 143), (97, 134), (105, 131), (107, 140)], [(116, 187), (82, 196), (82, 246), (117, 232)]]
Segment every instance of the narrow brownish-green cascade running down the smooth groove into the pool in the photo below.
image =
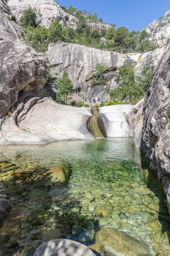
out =
[(99, 124), (99, 109), (91, 108), (91, 114), (92, 116), (87, 121), (87, 129), (94, 138), (105, 138), (105, 133), (102, 130), (101, 125)]

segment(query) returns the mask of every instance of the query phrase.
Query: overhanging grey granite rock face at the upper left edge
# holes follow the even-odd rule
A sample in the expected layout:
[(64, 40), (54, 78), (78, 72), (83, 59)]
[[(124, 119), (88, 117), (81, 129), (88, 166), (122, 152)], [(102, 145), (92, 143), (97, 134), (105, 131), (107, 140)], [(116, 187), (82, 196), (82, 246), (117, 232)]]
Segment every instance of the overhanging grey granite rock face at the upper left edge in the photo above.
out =
[(0, 0), (0, 31), (1, 118), (16, 103), (20, 92), (44, 87), (46, 59), (27, 44), (6, 0)]

